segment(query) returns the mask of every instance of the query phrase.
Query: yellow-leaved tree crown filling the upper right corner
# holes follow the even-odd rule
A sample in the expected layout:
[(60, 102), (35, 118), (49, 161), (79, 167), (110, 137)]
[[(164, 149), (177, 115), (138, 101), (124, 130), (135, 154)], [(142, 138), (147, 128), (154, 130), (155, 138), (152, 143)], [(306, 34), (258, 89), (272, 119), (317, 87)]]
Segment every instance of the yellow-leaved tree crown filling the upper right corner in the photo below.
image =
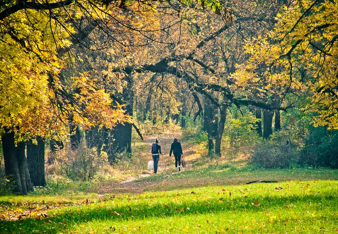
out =
[(336, 14), (336, 1), (290, 1), (274, 29), (247, 43), (251, 58), (242, 67), (250, 85), (269, 81), (270, 96), (305, 96), (314, 126), (329, 129), (338, 128)]

